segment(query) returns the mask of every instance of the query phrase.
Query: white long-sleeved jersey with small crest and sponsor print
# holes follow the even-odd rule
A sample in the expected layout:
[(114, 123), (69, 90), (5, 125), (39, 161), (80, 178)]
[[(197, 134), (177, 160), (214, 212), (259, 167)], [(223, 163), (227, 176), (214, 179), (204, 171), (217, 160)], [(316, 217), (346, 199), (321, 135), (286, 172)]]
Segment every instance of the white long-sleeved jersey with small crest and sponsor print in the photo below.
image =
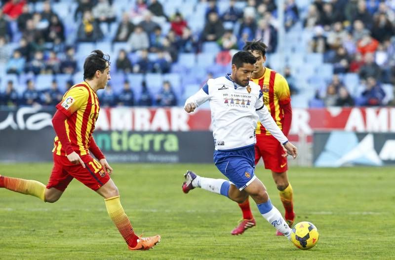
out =
[(285, 144), (288, 139), (276, 125), (263, 103), (261, 88), (250, 81), (247, 87), (237, 85), (230, 74), (209, 79), (185, 105), (198, 107), (209, 100), (215, 150), (234, 150), (256, 143), (255, 129), (259, 118), (276, 139)]

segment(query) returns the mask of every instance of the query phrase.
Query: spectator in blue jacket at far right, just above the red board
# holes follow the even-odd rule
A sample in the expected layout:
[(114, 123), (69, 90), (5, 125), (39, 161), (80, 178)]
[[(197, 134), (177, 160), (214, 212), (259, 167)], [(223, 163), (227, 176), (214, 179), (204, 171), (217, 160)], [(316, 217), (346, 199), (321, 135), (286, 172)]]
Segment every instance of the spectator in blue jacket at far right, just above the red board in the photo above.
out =
[(361, 98), (358, 100), (359, 105), (363, 106), (378, 106), (384, 105), (383, 100), (386, 93), (381, 88), (381, 85), (377, 83), (374, 77), (368, 77), (366, 79), (365, 90), (361, 94)]

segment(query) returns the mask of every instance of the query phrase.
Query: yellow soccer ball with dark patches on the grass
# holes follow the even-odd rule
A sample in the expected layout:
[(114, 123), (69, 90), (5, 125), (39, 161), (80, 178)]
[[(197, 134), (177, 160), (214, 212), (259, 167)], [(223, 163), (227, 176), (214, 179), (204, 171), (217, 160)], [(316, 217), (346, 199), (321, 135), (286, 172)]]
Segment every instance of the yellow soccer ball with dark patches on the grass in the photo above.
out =
[(299, 249), (310, 249), (318, 242), (318, 230), (310, 222), (299, 222), (292, 228), (291, 241)]

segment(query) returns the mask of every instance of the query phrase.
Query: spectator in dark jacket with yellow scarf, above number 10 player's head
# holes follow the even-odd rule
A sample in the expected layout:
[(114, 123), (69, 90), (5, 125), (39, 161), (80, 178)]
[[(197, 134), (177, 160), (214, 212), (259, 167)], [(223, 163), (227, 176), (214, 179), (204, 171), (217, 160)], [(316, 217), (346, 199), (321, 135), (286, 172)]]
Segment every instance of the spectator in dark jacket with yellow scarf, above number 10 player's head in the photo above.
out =
[(77, 38), (82, 42), (95, 42), (103, 38), (103, 32), (91, 11), (85, 11), (79, 24)]

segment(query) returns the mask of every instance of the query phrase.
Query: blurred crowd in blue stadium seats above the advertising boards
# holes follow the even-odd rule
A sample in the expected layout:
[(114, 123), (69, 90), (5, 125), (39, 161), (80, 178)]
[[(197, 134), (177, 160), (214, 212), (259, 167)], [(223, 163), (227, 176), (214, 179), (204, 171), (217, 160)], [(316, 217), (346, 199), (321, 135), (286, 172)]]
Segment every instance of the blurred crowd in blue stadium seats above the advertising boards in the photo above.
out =
[[(277, 17), (275, 0), (2, 0), (0, 104), (56, 104), (98, 48), (113, 60), (102, 105), (181, 105), (252, 39), (311, 107), (394, 104), (394, 1), (285, 0), (286, 35), (296, 40), (282, 44), (295, 48), (280, 64)], [(303, 75), (300, 55), (322, 62)], [(322, 64), (329, 73), (315, 73)]]

